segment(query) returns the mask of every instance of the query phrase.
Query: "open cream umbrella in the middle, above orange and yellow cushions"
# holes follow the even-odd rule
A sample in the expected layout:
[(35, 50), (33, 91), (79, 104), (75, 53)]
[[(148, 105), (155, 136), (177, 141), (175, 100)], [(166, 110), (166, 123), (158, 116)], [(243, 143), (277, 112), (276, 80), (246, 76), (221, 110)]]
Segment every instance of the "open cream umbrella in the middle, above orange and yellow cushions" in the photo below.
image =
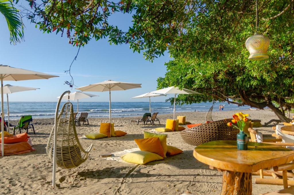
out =
[(138, 83), (128, 83), (121, 81), (102, 81), (91, 85), (76, 88), (81, 91), (109, 91), (109, 122), (111, 123), (111, 95), (110, 91), (120, 91), (141, 87)]

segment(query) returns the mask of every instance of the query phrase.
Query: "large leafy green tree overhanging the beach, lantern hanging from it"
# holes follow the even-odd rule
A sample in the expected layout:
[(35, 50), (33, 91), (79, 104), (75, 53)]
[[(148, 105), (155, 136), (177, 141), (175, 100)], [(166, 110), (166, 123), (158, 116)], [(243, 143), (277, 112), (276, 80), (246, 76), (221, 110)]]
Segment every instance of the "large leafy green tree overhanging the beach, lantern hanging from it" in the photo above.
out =
[[(254, 0), (107, 0), (56, 1), (37, 4), (28, 18), (47, 33), (66, 31), (69, 43), (84, 46), (91, 38), (130, 44), (148, 60), (165, 51), (173, 58), (158, 88), (179, 86), (203, 96), (180, 95), (177, 103), (227, 101), (259, 109), (268, 106), (282, 121), (293, 108), (294, 1), (260, 0), (259, 33), (270, 38), (264, 61), (249, 61), (245, 40), (255, 32)], [(132, 14), (129, 30), (108, 23), (121, 11)], [(213, 97), (212, 97), (213, 96)], [(280, 109), (275, 106), (278, 103)]]

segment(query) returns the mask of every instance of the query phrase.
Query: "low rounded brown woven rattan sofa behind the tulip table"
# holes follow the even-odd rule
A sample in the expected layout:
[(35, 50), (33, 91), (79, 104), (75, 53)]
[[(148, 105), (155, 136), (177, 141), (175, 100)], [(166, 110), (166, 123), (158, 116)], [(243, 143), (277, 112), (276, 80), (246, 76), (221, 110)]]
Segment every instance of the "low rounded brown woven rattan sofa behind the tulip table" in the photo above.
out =
[(213, 121), (181, 131), (183, 140), (193, 146), (198, 146), (214, 140), (236, 140), (238, 129), (227, 126), (231, 119)]

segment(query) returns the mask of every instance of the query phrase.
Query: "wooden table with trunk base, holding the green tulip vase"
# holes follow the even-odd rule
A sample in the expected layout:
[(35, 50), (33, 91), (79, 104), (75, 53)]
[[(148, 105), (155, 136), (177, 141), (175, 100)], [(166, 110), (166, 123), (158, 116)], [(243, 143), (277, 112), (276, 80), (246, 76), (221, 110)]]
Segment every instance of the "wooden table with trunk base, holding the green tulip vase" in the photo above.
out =
[(210, 141), (197, 146), (194, 157), (223, 171), (221, 194), (252, 194), (252, 172), (288, 163), (294, 151), (282, 146), (248, 142), (248, 150), (238, 150), (236, 141)]

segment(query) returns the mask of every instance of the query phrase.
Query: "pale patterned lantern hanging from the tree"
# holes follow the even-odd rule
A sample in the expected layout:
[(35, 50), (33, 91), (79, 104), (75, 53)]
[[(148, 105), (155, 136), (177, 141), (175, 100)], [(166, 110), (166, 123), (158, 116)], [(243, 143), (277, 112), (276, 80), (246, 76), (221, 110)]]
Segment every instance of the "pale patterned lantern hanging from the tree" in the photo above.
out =
[(255, 34), (250, 36), (245, 46), (248, 49), (250, 56), (249, 60), (264, 60), (268, 59), (268, 46), (270, 45), (270, 39), (263, 34)]

